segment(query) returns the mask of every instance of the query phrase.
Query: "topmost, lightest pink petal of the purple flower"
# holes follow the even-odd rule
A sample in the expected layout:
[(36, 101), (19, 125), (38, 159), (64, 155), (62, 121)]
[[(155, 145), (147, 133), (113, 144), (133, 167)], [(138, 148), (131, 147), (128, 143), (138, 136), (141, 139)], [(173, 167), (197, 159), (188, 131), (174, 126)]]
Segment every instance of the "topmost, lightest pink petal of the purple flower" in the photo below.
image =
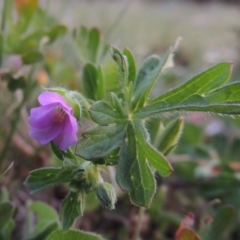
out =
[(66, 100), (56, 92), (43, 92), (38, 96), (38, 101), (43, 106), (51, 103), (59, 103), (67, 112), (72, 111), (72, 108), (66, 103)]

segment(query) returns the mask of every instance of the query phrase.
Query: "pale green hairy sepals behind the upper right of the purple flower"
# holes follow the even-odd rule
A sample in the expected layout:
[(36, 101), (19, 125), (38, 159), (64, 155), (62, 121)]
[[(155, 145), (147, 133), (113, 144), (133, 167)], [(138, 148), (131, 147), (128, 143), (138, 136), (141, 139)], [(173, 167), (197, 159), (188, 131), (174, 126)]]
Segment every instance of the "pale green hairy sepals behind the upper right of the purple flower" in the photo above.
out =
[(67, 90), (62, 87), (46, 88), (47, 91), (57, 92), (72, 107), (73, 115), (79, 121), (82, 116), (81, 95), (76, 91)]

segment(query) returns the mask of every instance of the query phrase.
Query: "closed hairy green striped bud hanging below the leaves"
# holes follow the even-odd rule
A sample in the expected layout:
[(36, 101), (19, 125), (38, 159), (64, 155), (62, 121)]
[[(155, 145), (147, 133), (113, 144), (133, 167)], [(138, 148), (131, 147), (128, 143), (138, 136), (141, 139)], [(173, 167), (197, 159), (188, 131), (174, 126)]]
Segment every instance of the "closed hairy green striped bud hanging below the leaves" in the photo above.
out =
[(116, 191), (114, 187), (107, 182), (98, 183), (94, 189), (98, 200), (102, 206), (110, 210), (115, 208), (117, 200)]

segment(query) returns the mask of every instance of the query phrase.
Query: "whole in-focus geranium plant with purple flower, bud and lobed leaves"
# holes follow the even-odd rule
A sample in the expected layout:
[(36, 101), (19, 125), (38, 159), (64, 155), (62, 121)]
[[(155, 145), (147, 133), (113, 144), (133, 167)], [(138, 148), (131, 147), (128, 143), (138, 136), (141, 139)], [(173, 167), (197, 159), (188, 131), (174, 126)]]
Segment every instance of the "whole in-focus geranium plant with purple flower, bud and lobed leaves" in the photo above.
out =
[[(30, 136), (41, 144), (49, 142), (62, 166), (30, 172), (25, 185), (35, 193), (51, 185), (69, 184), (69, 194), (60, 210), (64, 230), (83, 214), (85, 196), (92, 191), (104, 207), (114, 208), (115, 189), (101, 175), (106, 166), (115, 166), (116, 181), (128, 192), (133, 204), (151, 207), (156, 172), (163, 177), (173, 172), (166, 156), (177, 146), (183, 118), (159, 129), (154, 139), (146, 126), (149, 118), (176, 111), (240, 113), (240, 83), (227, 83), (232, 69), (228, 62), (219, 63), (153, 98), (151, 90), (166, 68), (172, 66), (174, 51), (172, 47), (161, 58), (150, 56), (136, 70), (128, 49), (112, 47), (119, 91), (107, 93), (108, 100), (103, 100), (106, 89), (101, 68), (93, 63), (84, 67), (83, 92), (56, 87), (39, 96), (42, 106), (32, 109), (29, 117)], [(90, 118), (93, 127), (74, 146), (77, 121), (81, 122), (83, 117)]]

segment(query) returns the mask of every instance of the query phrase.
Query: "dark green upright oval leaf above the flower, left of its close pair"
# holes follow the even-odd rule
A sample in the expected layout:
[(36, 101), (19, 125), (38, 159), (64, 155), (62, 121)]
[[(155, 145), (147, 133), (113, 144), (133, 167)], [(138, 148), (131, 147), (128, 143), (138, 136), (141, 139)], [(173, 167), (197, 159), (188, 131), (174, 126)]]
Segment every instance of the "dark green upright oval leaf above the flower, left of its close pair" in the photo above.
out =
[(83, 67), (82, 84), (87, 98), (96, 100), (98, 72), (96, 67), (87, 63)]

